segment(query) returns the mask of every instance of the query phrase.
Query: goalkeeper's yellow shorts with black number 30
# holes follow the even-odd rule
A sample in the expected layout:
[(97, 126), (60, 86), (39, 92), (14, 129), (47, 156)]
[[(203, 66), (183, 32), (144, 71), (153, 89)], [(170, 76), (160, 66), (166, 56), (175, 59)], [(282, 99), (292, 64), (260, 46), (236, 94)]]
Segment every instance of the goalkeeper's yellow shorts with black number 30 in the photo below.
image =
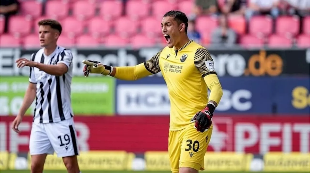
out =
[(204, 170), (204, 157), (212, 135), (212, 129), (201, 133), (194, 124), (178, 131), (169, 131), (168, 153), (171, 171), (179, 172), (179, 167)]

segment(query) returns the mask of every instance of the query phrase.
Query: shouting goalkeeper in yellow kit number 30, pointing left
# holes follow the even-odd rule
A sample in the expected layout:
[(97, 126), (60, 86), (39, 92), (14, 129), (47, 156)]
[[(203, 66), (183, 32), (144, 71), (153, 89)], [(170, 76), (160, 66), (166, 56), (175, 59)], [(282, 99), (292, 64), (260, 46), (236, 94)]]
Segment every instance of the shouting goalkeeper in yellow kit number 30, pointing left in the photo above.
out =
[[(222, 97), (210, 53), (187, 36), (188, 18), (183, 12), (168, 11), (162, 19), (168, 46), (144, 63), (112, 67), (84, 60), (83, 72), (137, 80), (162, 72), (170, 98), (168, 153), (173, 173), (204, 170), (204, 156), (212, 134), (213, 111)], [(207, 98), (207, 87), (210, 89)]]

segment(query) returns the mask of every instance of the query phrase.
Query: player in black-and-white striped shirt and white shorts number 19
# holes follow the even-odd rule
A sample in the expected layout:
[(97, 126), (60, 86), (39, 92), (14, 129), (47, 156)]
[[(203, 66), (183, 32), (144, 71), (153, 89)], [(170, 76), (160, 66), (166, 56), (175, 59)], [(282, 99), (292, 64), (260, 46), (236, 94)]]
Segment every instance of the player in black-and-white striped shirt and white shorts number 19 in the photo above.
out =
[(31, 172), (42, 173), (47, 154), (62, 157), (69, 173), (79, 173), (78, 143), (71, 108), (72, 53), (57, 45), (62, 27), (58, 21), (38, 22), (40, 45), (31, 59), (16, 61), (19, 68), (30, 67), (29, 86), (23, 104), (13, 121), (18, 125), (36, 98), (33, 124), (29, 140)]

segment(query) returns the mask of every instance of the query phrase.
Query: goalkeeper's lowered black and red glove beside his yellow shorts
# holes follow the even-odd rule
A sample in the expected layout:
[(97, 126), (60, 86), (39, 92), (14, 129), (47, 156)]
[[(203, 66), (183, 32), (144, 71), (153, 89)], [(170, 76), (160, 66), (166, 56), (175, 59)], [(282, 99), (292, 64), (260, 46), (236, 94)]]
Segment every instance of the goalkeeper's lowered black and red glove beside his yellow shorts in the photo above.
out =
[(194, 124), (194, 128), (199, 132), (204, 132), (209, 129), (212, 125), (212, 116), (215, 110), (215, 106), (213, 104), (208, 103), (206, 108), (197, 112), (195, 116), (191, 119)]

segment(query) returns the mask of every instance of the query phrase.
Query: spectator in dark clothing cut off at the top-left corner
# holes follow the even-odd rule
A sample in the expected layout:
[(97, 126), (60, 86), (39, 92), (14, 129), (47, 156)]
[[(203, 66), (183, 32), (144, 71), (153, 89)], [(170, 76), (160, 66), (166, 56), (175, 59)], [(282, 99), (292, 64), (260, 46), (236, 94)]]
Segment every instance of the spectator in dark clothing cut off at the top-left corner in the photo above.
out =
[(17, 14), (20, 9), (18, 0), (0, 0), (0, 14), (5, 17), (4, 33), (8, 32), (9, 18)]

